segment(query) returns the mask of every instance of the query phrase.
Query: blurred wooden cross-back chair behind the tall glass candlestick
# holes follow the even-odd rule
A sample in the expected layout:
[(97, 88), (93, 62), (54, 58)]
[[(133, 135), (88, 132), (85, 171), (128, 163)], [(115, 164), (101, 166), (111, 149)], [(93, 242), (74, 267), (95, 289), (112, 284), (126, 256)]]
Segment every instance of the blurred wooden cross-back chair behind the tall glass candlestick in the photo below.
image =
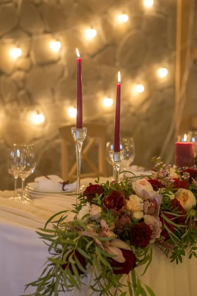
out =
[[(62, 168), (62, 178), (66, 181), (76, 180), (76, 161), (71, 164), (69, 168), (69, 153), (68, 145), (73, 146), (73, 153), (75, 153), (75, 142), (71, 135), (71, 127), (73, 125), (68, 125), (61, 127), (60, 135), (62, 138), (62, 159), (61, 159), (61, 168)], [(90, 172), (81, 174), (82, 178), (85, 177), (97, 177), (106, 175), (106, 161), (105, 161), (105, 145), (106, 145), (106, 126), (101, 124), (84, 124), (84, 127), (87, 127), (87, 137), (84, 141), (88, 141), (87, 145), (82, 147), (82, 161), (85, 161), (90, 169)], [(88, 157), (90, 149), (95, 145), (98, 145), (98, 167), (95, 162), (91, 161)], [(75, 159), (75, 158), (74, 158)]]

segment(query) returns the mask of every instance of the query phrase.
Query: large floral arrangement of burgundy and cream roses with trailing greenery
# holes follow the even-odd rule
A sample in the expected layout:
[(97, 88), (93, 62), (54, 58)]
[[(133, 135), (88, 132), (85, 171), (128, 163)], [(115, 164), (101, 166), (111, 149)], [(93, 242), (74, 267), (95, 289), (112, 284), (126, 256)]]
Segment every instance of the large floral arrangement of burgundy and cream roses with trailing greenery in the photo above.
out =
[(153, 245), (177, 264), (188, 247), (189, 258), (197, 258), (197, 170), (176, 172), (160, 157), (153, 161), (158, 171), (152, 176), (126, 177), (125, 171), (121, 182), (105, 184), (98, 178), (70, 211), (73, 221), (62, 211), (37, 232), (51, 256), (27, 285), (36, 287), (34, 296), (81, 291), (86, 278), (86, 295), (154, 296), (135, 272), (140, 265), (146, 272)]

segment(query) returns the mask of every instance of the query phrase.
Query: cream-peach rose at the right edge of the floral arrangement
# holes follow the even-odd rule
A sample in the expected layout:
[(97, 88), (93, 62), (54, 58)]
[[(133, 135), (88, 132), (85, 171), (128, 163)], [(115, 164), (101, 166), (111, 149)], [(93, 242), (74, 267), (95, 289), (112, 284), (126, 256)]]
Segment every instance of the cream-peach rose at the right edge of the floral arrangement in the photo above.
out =
[(177, 200), (180, 202), (186, 212), (196, 206), (197, 200), (192, 191), (180, 188), (175, 193)]

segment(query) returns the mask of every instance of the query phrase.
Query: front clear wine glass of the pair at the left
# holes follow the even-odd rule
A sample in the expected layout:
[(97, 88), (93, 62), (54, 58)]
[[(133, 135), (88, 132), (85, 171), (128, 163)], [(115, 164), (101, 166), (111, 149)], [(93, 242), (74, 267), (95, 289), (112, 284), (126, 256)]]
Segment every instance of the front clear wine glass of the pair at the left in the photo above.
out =
[(17, 145), (14, 144), (10, 157), (10, 167), (14, 174), (22, 180), (22, 195), (15, 198), (19, 202), (30, 203), (30, 199), (24, 194), (24, 182), (35, 170), (35, 155), (33, 151), (33, 144), (31, 145)]

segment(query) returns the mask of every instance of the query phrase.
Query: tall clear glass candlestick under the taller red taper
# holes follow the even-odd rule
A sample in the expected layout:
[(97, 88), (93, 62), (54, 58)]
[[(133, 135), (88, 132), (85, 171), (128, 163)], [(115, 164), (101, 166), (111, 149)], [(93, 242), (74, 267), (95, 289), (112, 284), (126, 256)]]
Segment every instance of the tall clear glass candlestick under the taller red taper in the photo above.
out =
[(75, 145), (76, 145), (76, 163), (77, 163), (77, 185), (76, 185), (76, 204), (77, 204), (77, 198), (80, 194), (80, 175), (81, 175), (81, 148), (83, 145), (83, 141), (86, 138), (87, 135), (87, 128), (71, 128), (71, 134), (74, 138)]

